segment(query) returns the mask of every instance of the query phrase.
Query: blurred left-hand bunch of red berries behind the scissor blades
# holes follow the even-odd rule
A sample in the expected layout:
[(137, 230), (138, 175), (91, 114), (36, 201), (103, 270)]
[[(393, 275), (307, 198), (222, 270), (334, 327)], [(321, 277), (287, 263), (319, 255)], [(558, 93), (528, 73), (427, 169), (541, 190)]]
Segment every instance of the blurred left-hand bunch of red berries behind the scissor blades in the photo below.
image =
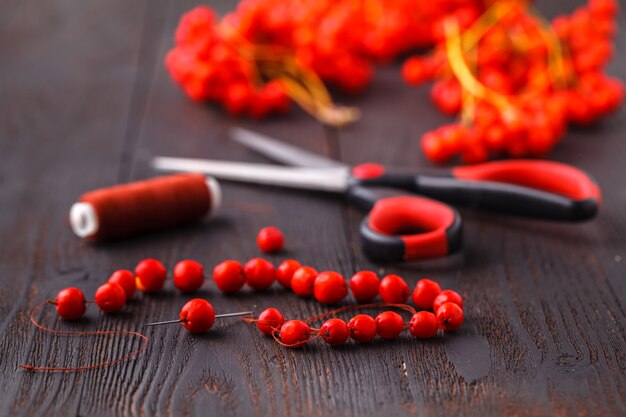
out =
[(476, 0), (419, 7), (410, 0), (242, 0), (218, 20), (198, 6), (182, 16), (165, 63), (192, 100), (262, 118), (287, 111), (288, 96), (298, 100), (303, 91), (312, 107), (327, 105), (312, 74), (358, 93), (370, 83), (374, 61), (432, 45), (447, 16), (467, 27), (481, 12)]

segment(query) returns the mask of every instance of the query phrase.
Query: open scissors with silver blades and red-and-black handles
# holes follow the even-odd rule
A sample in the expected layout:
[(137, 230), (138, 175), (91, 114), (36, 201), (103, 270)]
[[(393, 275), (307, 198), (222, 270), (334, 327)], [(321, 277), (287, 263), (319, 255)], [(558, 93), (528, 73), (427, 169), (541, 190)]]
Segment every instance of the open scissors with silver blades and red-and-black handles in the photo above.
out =
[[(354, 167), (294, 145), (234, 128), (242, 145), (291, 167), (207, 159), (156, 157), (163, 171), (336, 193), (369, 210), (359, 228), (375, 262), (435, 258), (458, 251), (462, 221), (448, 204), (555, 221), (583, 221), (601, 202), (596, 182), (570, 165), (539, 160), (494, 161), (437, 174), (392, 173), (379, 164)], [(378, 188), (411, 193), (381, 197)]]

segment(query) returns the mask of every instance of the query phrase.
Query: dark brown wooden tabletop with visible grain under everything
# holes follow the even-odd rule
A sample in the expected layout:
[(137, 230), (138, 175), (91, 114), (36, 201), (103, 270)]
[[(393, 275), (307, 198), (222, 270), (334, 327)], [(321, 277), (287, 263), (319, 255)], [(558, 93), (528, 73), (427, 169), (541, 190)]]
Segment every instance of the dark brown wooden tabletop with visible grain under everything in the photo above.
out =
[[(185, 100), (162, 62), (177, 20), (195, 1), (3, 1), (0, 8), (0, 414), (113, 415), (626, 415), (625, 112), (573, 129), (552, 157), (575, 164), (604, 190), (598, 218), (554, 224), (462, 210), (464, 251), (446, 260), (380, 267), (361, 254), (362, 213), (328, 196), (224, 185), (225, 204), (192, 227), (92, 245), (72, 234), (70, 205), (81, 193), (155, 175), (154, 155), (263, 161), (227, 139), (243, 125), (348, 163), (429, 166), (421, 133), (444, 123), (426, 88), (401, 82), (399, 64), (378, 71), (363, 110), (344, 130), (300, 111), (252, 122)], [(230, 3), (230, 2), (228, 2)], [(225, 11), (231, 4), (216, 7)], [(559, 2), (540, 8), (553, 15)], [(620, 18), (624, 26), (625, 20)], [(624, 32), (610, 71), (625, 74)], [(259, 255), (255, 234), (280, 226), (288, 252), (320, 269), (433, 277), (466, 298), (455, 334), (420, 342), (314, 343), (288, 350), (237, 321), (203, 337), (179, 326), (149, 332), (140, 357), (107, 369), (34, 373), (17, 363), (78, 365), (124, 355), (130, 338), (54, 337), (28, 321), (30, 309), (66, 286), (88, 295), (117, 268), (144, 257), (168, 267), (184, 258), (207, 269)], [(291, 317), (324, 311), (273, 287), (201, 295), (218, 311), (276, 306)], [(189, 299), (171, 282), (123, 314), (51, 326), (137, 329), (169, 319)]]

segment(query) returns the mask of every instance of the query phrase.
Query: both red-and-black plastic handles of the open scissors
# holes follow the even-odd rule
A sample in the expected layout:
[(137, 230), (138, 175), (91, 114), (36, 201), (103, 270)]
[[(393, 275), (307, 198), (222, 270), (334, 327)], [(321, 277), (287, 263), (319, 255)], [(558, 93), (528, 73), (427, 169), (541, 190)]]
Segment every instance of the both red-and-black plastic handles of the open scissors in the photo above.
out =
[[(371, 203), (360, 227), (365, 254), (375, 261), (433, 258), (461, 247), (462, 222), (446, 203), (539, 219), (582, 221), (595, 216), (600, 189), (583, 171), (548, 161), (497, 161), (454, 168), (447, 175), (386, 174), (376, 164), (353, 171), (355, 199), (372, 201), (371, 187), (393, 187), (435, 198), (388, 197)], [(373, 206), (372, 206), (373, 204)]]

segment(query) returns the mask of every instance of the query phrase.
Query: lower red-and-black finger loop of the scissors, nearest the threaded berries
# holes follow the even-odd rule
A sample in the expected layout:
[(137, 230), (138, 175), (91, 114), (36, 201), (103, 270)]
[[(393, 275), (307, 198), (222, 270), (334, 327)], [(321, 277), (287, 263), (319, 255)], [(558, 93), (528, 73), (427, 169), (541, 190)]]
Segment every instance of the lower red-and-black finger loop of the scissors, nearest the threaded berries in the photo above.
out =
[(424, 197), (378, 200), (360, 228), (365, 255), (374, 261), (435, 258), (461, 247), (462, 223), (452, 207)]

